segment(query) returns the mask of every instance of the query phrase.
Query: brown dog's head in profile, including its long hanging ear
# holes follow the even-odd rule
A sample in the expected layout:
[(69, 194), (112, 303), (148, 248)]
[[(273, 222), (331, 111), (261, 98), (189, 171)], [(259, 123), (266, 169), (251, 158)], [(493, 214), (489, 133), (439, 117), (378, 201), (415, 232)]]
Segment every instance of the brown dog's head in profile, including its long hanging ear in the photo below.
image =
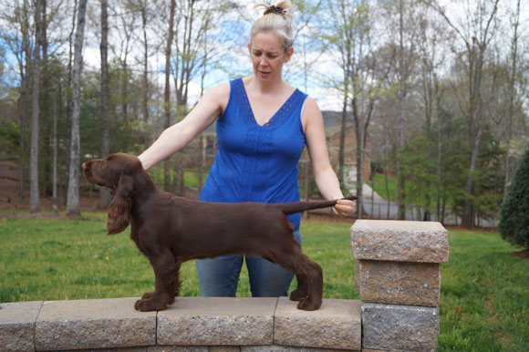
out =
[(121, 233), (131, 220), (135, 181), (147, 175), (141, 161), (135, 156), (117, 153), (105, 159), (88, 160), (82, 167), (88, 182), (107, 187), (114, 193), (109, 207), (107, 231), (108, 234)]

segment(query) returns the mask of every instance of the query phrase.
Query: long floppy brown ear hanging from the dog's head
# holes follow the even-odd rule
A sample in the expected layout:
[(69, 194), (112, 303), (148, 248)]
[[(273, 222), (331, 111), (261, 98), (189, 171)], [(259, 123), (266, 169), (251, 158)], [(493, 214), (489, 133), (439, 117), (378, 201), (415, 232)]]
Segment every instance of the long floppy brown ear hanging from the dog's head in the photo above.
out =
[(130, 223), (130, 208), (132, 208), (132, 178), (121, 175), (114, 199), (110, 202), (107, 234), (124, 231)]

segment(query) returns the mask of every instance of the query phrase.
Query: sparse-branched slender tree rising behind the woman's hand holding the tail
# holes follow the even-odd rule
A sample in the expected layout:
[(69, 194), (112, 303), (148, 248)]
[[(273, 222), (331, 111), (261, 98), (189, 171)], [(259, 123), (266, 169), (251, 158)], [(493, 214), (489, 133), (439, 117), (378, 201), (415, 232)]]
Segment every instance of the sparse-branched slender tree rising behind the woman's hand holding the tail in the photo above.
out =
[[(377, 41), (374, 39), (376, 33), (372, 26), (373, 9), (369, 2), (341, 0), (329, 5), (335, 18), (329, 36), (330, 47), (336, 50), (338, 65), (343, 71), (343, 81), (338, 83), (344, 98), (340, 144), (345, 139), (345, 110), (348, 108), (357, 140), (356, 188), (357, 194), (362, 194), (368, 129), (376, 103), (384, 95), (382, 83), (389, 70), (380, 65)], [(357, 212), (358, 218), (361, 218), (362, 198), (358, 200)]]

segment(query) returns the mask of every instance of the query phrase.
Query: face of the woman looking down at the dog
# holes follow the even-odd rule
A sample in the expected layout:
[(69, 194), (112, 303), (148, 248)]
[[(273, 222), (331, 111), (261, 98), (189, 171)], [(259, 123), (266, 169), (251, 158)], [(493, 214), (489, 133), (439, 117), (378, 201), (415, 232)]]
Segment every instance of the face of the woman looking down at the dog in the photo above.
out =
[(283, 64), (290, 60), (293, 48), (285, 52), (283, 39), (275, 31), (259, 32), (254, 34), (248, 44), (254, 75), (260, 81), (267, 83), (281, 78)]

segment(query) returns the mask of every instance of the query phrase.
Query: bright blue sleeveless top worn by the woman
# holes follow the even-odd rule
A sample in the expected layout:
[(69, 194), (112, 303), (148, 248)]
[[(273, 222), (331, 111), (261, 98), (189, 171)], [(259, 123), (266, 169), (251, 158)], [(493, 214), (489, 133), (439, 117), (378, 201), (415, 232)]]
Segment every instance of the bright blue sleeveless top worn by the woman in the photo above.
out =
[[(243, 79), (230, 81), (230, 98), (217, 119), (218, 152), (199, 200), (297, 202), (297, 163), (305, 148), (298, 89), (263, 126), (254, 119)], [(289, 215), (299, 229), (300, 214)]]

